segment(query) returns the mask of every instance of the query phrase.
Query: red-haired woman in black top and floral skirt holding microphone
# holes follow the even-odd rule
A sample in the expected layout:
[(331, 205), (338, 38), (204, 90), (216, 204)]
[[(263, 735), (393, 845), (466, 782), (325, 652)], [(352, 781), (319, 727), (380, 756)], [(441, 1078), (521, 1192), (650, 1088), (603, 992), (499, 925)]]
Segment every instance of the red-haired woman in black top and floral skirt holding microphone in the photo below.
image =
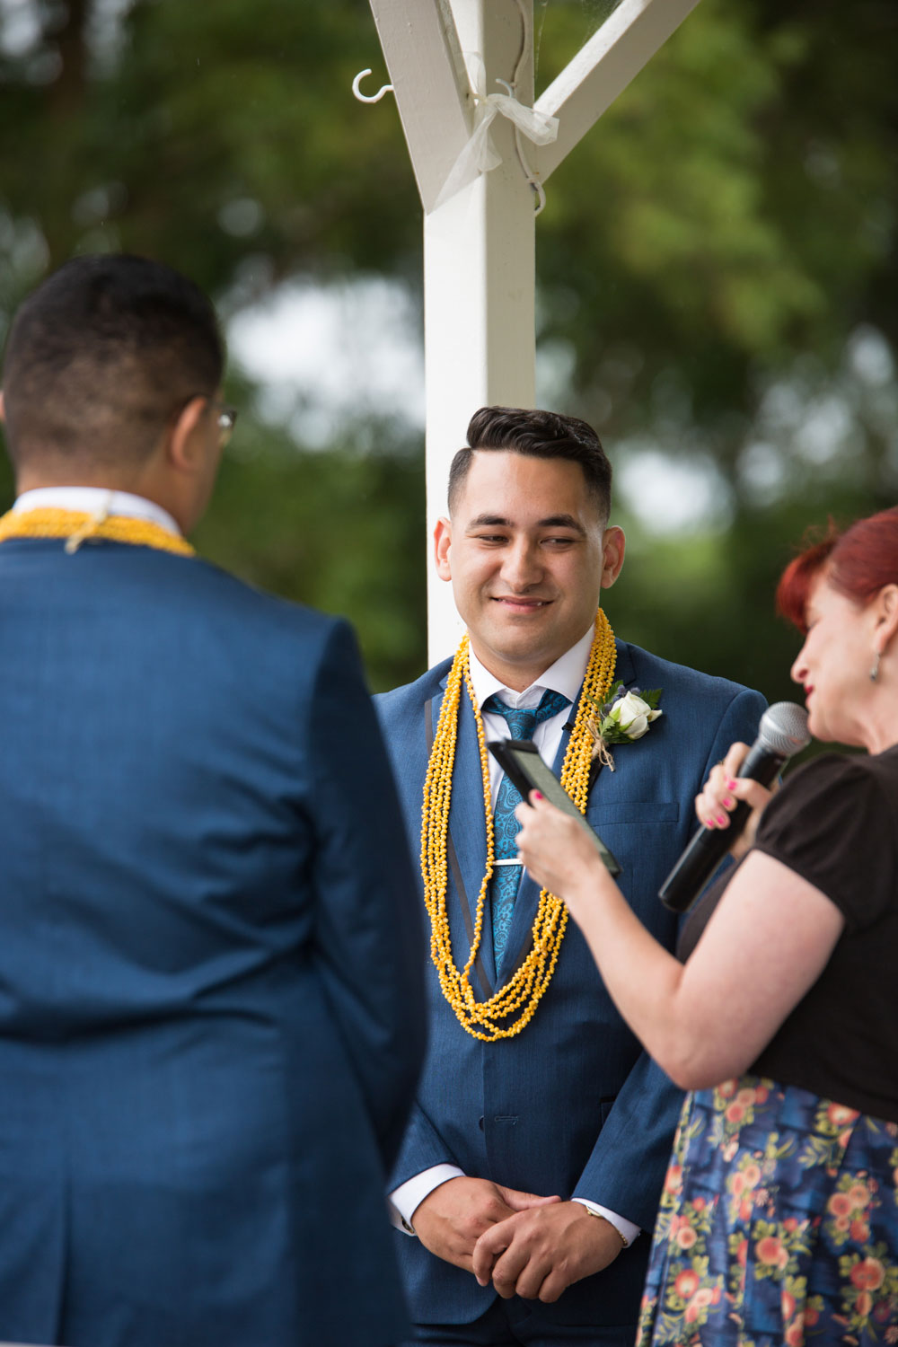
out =
[[(518, 806), (528, 870), (561, 894), (606, 986), (687, 1095), (654, 1231), (640, 1343), (898, 1342), (898, 508), (786, 568), (810, 733), (867, 750), (804, 764), (771, 796), (734, 744), (696, 799), (753, 807), (736, 870), (679, 963), (576, 824)], [(751, 838), (754, 841), (751, 842)], [(504, 1276), (494, 1226), (474, 1266)], [(509, 1270), (513, 1274), (513, 1269)]]

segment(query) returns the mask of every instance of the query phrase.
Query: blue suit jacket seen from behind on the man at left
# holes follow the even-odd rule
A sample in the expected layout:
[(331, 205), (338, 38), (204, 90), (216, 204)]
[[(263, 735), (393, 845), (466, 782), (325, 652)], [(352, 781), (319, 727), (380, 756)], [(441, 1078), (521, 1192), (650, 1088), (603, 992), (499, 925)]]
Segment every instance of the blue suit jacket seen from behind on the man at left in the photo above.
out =
[(420, 904), (349, 626), (0, 546), (0, 1338), (385, 1347)]

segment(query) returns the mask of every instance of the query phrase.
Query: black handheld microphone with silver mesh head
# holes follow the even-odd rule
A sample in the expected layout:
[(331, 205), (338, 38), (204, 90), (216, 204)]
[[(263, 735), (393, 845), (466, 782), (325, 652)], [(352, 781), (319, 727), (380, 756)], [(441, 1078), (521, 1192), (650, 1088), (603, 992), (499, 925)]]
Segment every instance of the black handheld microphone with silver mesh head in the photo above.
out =
[[(758, 738), (749, 749), (739, 776), (770, 785), (786, 758), (801, 753), (809, 744), (808, 713), (804, 706), (777, 702), (761, 717)], [(751, 807), (739, 800), (730, 814), (728, 828), (699, 828), (658, 890), (665, 908), (685, 912), (692, 905), (730, 850), (732, 839), (742, 832), (750, 814)]]

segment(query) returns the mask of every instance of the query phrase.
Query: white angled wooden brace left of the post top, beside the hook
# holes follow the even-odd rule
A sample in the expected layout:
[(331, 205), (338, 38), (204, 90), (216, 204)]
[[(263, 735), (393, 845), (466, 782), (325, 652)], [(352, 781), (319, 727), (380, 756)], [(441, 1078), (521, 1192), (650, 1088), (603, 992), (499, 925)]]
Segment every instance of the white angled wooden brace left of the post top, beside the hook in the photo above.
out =
[(448, 0), (370, 0), (424, 210), (471, 133), (464, 58)]

